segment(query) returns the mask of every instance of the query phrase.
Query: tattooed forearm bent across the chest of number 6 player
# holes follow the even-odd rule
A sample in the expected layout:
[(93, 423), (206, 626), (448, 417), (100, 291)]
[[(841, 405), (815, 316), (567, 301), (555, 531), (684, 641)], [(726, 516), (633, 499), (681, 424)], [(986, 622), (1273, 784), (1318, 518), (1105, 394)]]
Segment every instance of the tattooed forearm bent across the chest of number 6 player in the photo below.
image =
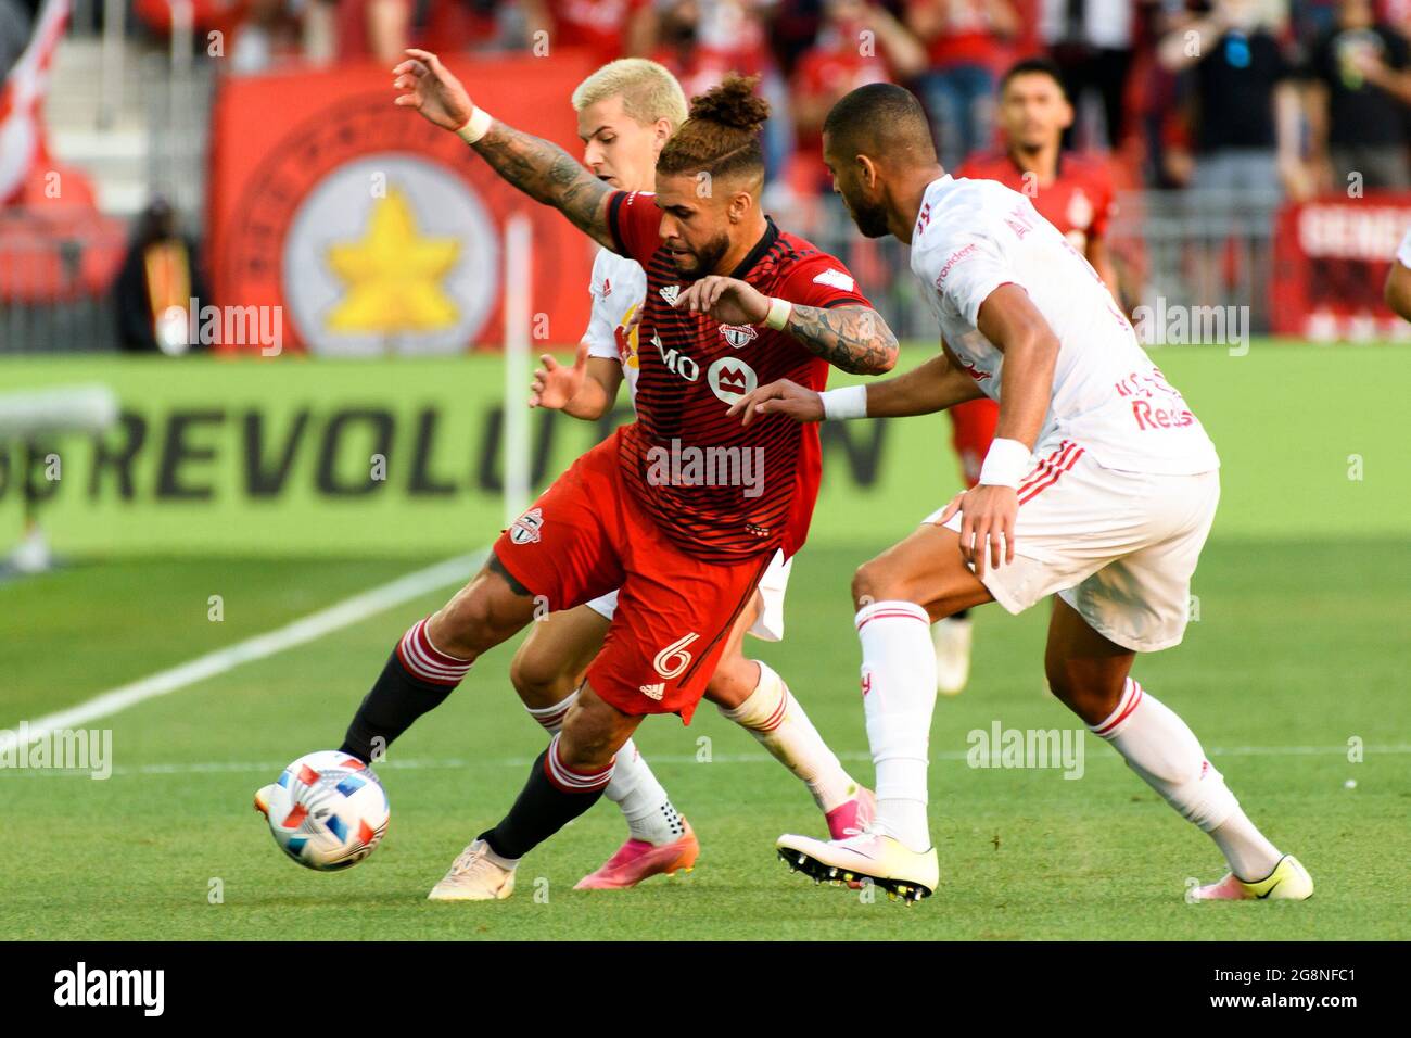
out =
[(710, 314), (727, 325), (769, 325), (852, 374), (882, 374), (896, 364), (896, 336), (871, 306), (801, 306), (770, 299), (746, 281), (718, 274), (682, 292), (676, 306)]

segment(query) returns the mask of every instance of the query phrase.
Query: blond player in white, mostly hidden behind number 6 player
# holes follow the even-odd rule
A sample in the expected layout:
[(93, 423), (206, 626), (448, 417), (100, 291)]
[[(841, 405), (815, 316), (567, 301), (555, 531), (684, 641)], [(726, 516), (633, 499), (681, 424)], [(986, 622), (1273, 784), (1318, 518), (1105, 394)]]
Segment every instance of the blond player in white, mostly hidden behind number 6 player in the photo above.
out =
[[(665, 68), (641, 58), (604, 65), (573, 92), (584, 164), (622, 191), (652, 191), (656, 155), (686, 120), (686, 96)], [(571, 367), (543, 357), (531, 407), (562, 410), (595, 421), (612, 410), (626, 381), (635, 395), (636, 311), (646, 274), (607, 249), (593, 264), (593, 312)], [(765, 662), (746, 660), (746, 631), (766, 641), (783, 637), (783, 599), (792, 559), (776, 554), (731, 633), (706, 698), (748, 730), (807, 784), (834, 836), (861, 832), (872, 819), (872, 794), (842, 768), (789, 686)], [(556, 733), (607, 636), (617, 592), (536, 623), (511, 664), (511, 679), (529, 713)], [(690, 869), (700, 853), (696, 833), (631, 743), (618, 753), (605, 795), (622, 811), (628, 840), (579, 888), (631, 887), (649, 876)]]

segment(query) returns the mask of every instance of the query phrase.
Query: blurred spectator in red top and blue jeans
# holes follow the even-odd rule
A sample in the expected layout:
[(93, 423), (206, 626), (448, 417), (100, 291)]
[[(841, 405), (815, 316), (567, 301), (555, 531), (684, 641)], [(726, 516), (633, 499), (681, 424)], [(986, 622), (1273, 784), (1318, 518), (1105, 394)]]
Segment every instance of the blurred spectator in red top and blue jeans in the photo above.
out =
[(989, 145), (995, 76), (1019, 16), (1010, 0), (910, 0), (906, 24), (926, 44), (930, 69), (917, 86), (941, 164), (959, 165)]

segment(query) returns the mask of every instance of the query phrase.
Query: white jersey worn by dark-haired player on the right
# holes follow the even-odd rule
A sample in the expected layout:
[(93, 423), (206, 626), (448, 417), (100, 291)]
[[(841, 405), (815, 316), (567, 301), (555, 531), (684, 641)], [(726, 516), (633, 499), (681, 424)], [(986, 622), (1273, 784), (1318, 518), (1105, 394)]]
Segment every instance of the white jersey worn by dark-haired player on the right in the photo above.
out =
[(1137, 345), (1102, 278), (1024, 195), (995, 181), (933, 181), (912, 237), (912, 270), (945, 343), (993, 400), (1005, 356), (976, 328), (985, 298), (1017, 284), (1053, 328), (1058, 360), (1036, 453), (1068, 439), (1123, 472), (1219, 467), (1215, 445)]

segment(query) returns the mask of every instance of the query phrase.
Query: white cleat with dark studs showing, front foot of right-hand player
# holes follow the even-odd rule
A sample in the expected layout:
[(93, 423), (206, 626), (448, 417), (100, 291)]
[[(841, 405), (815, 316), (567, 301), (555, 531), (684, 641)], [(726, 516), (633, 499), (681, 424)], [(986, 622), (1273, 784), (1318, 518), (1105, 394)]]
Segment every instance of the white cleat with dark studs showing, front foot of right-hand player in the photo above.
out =
[(909, 850), (900, 840), (880, 833), (862, 833), (845, 840), (816, 840), (786, 833), (775, 845), (779, 857), (814, 883), (861, 885), (871, 880), (907, 904), (930, 897), (941, 883), (935, 847)]

